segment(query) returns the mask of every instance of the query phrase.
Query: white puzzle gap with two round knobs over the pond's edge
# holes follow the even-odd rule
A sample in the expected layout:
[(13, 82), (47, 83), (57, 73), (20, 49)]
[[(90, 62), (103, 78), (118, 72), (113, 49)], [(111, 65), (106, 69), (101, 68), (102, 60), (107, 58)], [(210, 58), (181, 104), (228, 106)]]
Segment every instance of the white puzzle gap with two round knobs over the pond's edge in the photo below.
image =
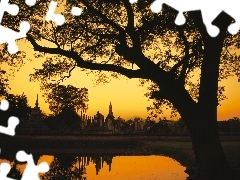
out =
[(46, 162), (35, 165), (32, 154), (27, 154), (25, 151), (18, 151), (16, 158), (20, 162), (27, 162), (21, 180), (40, 180), (38, 174), (49, 171), (49, 165)]

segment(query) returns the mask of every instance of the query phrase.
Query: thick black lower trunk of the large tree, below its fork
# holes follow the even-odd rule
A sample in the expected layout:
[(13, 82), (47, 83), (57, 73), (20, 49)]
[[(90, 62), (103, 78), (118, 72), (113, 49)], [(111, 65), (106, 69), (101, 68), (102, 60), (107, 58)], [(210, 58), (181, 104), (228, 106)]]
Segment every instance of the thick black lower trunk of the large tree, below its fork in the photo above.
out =
[[(203, 110), (203, 109), (202, 109)], [(199, 109), (198, 112), (203, 112)], [(197, 114), (196, 114), (197, 115)], [(217, 121), (211, 114), (198, 113), (191, 125), (191, 138), (199, 179), (231, 179), (231, 169), (219, 141)]]

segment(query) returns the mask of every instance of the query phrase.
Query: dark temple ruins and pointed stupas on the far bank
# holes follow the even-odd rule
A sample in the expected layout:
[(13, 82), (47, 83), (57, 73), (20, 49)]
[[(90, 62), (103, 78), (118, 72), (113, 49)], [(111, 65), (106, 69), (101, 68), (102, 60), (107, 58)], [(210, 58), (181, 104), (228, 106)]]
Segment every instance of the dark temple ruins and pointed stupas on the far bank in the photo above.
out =
[[(94, 116), (88, 116), (81, 111), (79, 115), (79, 127), (74, 130), (65, 130), (67, 134), (123, 134), (122, 126), (125, 122), (120, 116), (114, 117), (113, 106), (110, 102), (109, 111), (106, 118), (99, 111)], [(71, 120), (71, 119), (69, 119)], [(134, 120), (135, 132), (143, 132), (144, 121), (142, 119)], [(31, 108), (29, 119), (22, 121), (18, 127), (19, 134), (54, 134), (54, 130), (48, 128), (44, 120), (43, 112), (39, 107), (38, 94), (35, 106)]]

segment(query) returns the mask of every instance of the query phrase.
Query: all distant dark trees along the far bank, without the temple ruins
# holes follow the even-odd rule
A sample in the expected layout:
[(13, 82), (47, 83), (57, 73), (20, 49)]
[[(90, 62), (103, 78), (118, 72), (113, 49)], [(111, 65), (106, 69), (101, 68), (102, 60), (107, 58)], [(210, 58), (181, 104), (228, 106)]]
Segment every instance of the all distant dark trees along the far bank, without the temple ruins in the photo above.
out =
[[(0, 111), (1, 124), (7, 126), (8, 118), (16, 116), (20, 121), (26, 121), (31, 114), (27, 96), (5, 93), (1, 98), (9, 101), (9, 109)], [(46, 98), (53, 114), (43, 114), (43, 120), (51, 131), (64, 133), (80, 129), (81, 118), (78, 111), (86, 111), (88, 106), (88, 89), (76, 88), (68, 85), (58, 85), (49, 92)], [(121, 134), (135, 133), (135, 120), (121, 121)], [(143, 121), (143, 133), (146, 135), (188, 135), (185, 122), (180, 118), (178, 121), (158, 121), (150, 118)], [(240, 135), (240, 118), (233, 117), (225, 121), (218, 121), (219, 133), (222, 135)]]

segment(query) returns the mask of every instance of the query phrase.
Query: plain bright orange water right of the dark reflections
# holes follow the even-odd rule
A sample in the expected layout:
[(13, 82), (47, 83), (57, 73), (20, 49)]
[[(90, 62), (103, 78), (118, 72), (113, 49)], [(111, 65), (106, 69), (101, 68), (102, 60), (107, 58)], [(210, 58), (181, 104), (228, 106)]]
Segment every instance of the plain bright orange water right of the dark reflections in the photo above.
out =
[[(85, 177), (93, 179), (164, 179), (183, 180), (188, 177), (185, 167), (177, 161), (165, 156), (116, 156), (111, 164), (102, 162), (97, 173), (96, 164), (90, 162), (86, 167)], [(96, 172), (96, 173), (94, 173)]]

